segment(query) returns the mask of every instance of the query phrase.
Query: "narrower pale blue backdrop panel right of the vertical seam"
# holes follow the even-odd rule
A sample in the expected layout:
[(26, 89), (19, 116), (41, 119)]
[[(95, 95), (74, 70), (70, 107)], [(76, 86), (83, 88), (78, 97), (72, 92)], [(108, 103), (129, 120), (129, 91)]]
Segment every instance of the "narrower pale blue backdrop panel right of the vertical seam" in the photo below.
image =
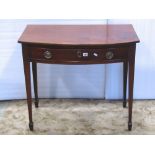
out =
[[(140, 43), (135, 64), (135, 99), (155, 99), (155, 20), (108, 20), (109, 24), (133, 24)], [(105, 98), (122, 98), (122, 65), (106, 65)]]

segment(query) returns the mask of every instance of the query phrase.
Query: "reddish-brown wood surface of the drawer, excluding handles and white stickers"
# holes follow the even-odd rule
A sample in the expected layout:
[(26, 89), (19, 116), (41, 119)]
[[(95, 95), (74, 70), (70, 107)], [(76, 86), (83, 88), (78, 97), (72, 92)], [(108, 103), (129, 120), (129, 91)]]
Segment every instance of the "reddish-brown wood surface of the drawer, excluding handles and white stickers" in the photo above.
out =
[[(122, 62), (122, 60), (127, 60), (128, 46), (106, 46), (106, 47), (83, 47), (83, 48), (53, 48), (53, 47), (39, 47), (38, 45), (29, 45), (28, 55), (29, 61), (35, 61), (40, 63), (50, 63), (50, 64), (101, 64), (101, 63), (111, 63), (111, 62)], [(52, 54), (50, 59), (44, 56), (44, 53), (49, 51)], [(109, 60), (106, 58), (106, 53), (111, 51), (113, 57)], [(126, 52), (124, 52), (126, 51)], [(88, 53), (88, 57), (79, 57), (78, 53)], [(94, 52), (98, 56), (94, 56)]]

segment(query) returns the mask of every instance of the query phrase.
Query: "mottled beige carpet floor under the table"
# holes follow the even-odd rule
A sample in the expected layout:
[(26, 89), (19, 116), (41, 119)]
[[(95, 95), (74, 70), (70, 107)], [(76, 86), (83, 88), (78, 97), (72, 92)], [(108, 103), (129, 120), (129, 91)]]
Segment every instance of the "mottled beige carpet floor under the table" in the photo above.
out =
[(155, 100), (134, 101), (132, 131), (121, 101), (42, 99), (33, 122), (31, 132), (26, 100), (0, 102), (1, 135), (141, 135), (155, 134)]

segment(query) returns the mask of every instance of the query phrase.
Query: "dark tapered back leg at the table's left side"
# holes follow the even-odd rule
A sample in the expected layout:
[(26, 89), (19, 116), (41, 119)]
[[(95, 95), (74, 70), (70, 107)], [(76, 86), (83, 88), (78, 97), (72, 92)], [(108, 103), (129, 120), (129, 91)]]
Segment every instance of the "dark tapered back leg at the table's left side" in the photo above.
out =
[(33, 84), (34, 84), (34, 96), (35, 96), (35, 107), (38, 108), (38, 85), (37, 85), (37, 63), (32, 62), (32, 73), (33, 73)]

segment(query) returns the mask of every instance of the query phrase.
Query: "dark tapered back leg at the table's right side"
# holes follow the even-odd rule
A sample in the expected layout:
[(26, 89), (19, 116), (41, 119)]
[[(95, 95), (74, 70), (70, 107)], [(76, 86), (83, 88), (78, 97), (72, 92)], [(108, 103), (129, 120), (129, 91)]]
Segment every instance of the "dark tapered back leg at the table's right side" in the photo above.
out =
[(123, 107), (126, 107), (126, 93), (127, 93), (127, 75), (128, 75), (128, 61), (123, 62)]

